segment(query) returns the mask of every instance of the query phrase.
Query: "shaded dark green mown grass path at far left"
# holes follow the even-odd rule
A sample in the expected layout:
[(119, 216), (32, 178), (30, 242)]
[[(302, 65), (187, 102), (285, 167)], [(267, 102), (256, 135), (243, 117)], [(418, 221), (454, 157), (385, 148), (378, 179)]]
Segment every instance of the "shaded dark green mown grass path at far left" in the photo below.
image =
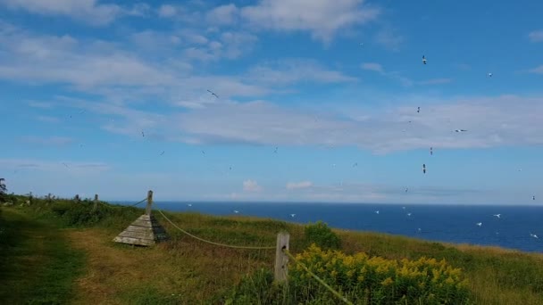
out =
[(21, 210), (0, 215), (0, 303), (66, 304), (74, 295), (85, 255), (71, 248), (66, 230)]

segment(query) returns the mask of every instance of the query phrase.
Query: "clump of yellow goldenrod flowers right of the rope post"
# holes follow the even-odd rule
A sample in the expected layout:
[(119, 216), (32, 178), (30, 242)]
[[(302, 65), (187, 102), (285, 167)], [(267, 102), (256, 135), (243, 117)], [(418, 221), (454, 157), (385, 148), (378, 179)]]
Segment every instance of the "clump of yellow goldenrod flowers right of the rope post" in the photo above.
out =
[[(461, 269), (449, 266), (446, 260), (386, 260), (365, 253), (350, 256), (337, 250), (323, 251), (314, 243), (296, 258), (354, 303), (469, 303), (467, 280)], [(338, 301), (294, 261), (289, 262), (288, 276), (299, 293), (297, 299)]]

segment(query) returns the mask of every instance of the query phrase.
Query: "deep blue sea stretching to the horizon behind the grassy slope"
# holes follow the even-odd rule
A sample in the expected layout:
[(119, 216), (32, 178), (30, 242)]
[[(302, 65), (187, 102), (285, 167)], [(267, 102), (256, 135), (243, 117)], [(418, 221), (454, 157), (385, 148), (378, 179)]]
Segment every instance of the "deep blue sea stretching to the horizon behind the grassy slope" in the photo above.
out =
[[(246, 215), (300, 224), (322, 220), (330, 227), (348, 230), (543, 252), (543, 207), (405, 205), (404, 210), (397, 204), (190, 202), (189, 207), (188, 202), (155, 203), (163, 210)], [(407, 216), (408, 212), (412, 215)], [(501, 218), (493, 216), (498, 213)], [(478, 222), (482, 226), (477, 226)]]

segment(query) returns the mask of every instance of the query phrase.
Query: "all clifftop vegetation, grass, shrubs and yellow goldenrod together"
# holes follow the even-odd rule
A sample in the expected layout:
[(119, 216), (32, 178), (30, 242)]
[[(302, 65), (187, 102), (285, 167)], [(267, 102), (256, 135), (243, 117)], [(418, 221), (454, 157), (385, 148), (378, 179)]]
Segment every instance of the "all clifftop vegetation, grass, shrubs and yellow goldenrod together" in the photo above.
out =
[[(171, 239), (153, 247), (113, 243), (141, 207), (88, 199), (7, 195), (0, 208), (0, 303), (341, 304), (315, 276), (355, 304), (540, 304), (543, 255), (434, 243), (199, 213), (163, 214), (216, 243), (275, 246), (290, 235), (287, 284), (274, 282), (275, 250), (204, 243), (154, 211)], [(302, 267), (302, 266), (305, 266)]]

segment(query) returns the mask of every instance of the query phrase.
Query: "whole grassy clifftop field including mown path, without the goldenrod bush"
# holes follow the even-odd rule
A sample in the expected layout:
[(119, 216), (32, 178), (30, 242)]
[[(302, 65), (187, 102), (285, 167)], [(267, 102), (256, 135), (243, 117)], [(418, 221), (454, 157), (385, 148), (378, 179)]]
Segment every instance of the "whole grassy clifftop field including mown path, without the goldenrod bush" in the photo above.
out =
[[(77, 208), (71, 208), (77, 204)], [(221, 304), (242, 276), (273, 269), (275, 250), (238, 250), (200, 242), (155, 212), (171, 241), (155, 247), (113, 243), (143, 213), (91, 202), (1, 208), (0, 303)], [(78, 210), (79, 209), (79, 210)], [(217, 243), (274, 246), (281, 230), (290, 251), (308, 246), (304, 226), (246, 217), (166, 213), (179, 227)], [(429, 243), (334, 230), (341, 250), (416, 260), (446, 259), (462, 268), (477, 304), (543, 304), (543, 255), (499, 248)], [(49, 301), (49, 302), (48, 302)]]

